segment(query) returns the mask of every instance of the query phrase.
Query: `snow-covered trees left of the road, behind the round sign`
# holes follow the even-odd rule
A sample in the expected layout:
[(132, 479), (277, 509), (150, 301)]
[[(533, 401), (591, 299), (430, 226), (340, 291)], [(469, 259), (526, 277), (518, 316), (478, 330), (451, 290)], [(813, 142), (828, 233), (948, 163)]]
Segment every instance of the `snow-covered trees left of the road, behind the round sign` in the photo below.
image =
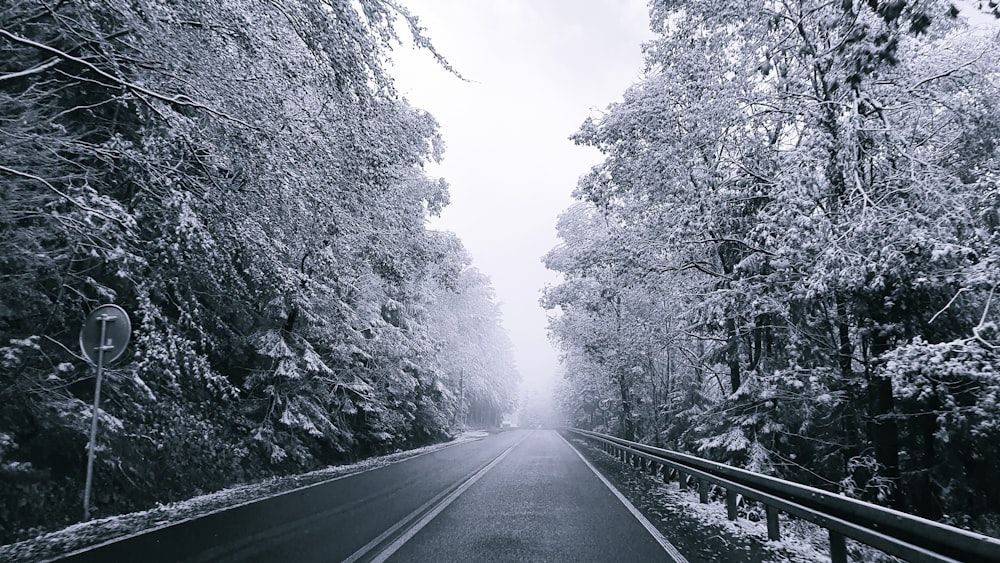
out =
[[(405, 37), (400, 37), (401, 32)], [(412, 36), (412, 37), (411, 37)], [(387, 69), (389, 0), (0, 0), (0, 543), (497, 425), (490, 281)]]

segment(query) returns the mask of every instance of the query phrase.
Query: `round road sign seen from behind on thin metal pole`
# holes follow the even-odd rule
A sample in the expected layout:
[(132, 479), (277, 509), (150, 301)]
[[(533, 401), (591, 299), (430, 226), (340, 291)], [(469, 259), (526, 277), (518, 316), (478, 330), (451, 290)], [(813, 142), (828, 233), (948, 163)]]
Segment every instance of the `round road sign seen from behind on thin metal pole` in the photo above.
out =
[(90, 488), (94, 480), (94, 451), (97, 446), (97, 411), (101, 404), (101, 378), (104, 364), (117, 360), (128, 345), (132, 323), (117, 305), (101, 305), (94, 309), (80, 329), (80, 351), (97, 365), (94, 389), (93, 417), (90, 421), (90, 442), (87, 444), (87, 482), (83, 488), (83, 519), (90, 520)]

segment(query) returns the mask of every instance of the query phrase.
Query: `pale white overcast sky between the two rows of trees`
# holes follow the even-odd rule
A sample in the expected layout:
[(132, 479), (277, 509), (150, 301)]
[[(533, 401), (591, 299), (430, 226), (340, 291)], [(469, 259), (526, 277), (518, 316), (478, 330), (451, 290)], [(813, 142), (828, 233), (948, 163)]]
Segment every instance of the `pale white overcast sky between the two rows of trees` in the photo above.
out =
[[(433, 114), (446, 144), (429, 170), (451, 185), (431, 228), (458, 234), (490, 277), (525, 383), (557, 370), (541, 289), (558, 281), (541, 257), (577, 179), (600, 160), (568, 137), (638, 81), (652, 37), (645, 0), (404, 0), (438, 51), (397, 48), (396, 85)], [(402, 31), (402, 30), (401, 30)]]

